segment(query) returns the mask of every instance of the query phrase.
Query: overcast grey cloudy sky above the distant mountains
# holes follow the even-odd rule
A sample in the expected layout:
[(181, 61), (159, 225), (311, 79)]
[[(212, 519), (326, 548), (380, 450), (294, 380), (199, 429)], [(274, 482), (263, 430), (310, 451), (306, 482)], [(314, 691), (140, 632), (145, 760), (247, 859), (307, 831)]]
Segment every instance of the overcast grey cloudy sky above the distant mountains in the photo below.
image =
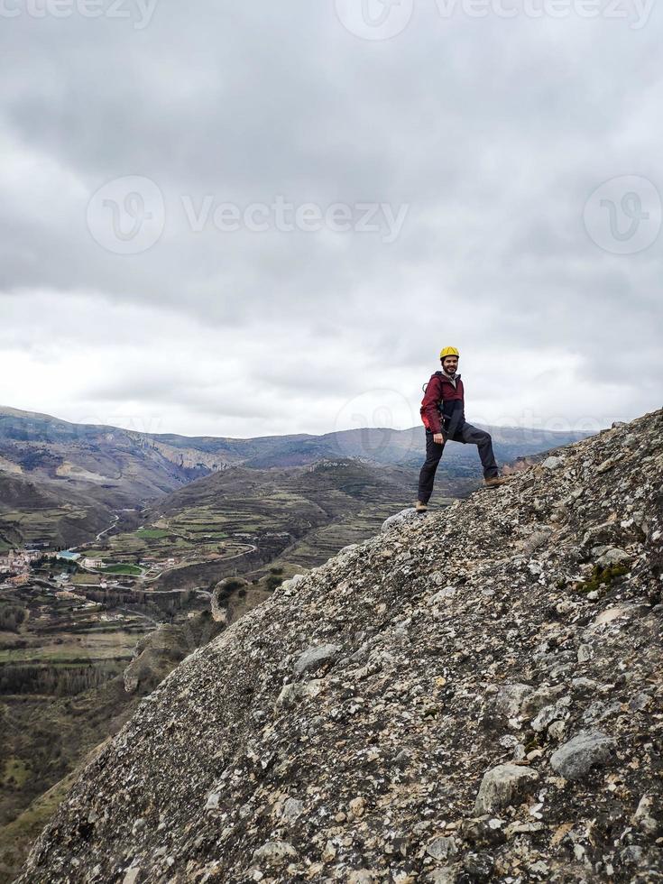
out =
[[(250, 437), (661, 406), (651, 0), (2, 0), (0, 404)], [(657, 123), (658, 120), (658, 123)]]

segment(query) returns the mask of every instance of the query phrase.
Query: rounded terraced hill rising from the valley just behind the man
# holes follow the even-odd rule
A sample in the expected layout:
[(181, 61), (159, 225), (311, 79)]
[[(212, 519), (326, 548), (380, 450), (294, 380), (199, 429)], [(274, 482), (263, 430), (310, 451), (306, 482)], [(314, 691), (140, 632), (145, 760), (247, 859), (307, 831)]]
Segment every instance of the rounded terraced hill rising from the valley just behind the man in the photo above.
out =
[(411, 500), (415, 485), (411, 470), (347, 458), (270, 470), (232, 466), (161, 497), (143, 509), (137, 529), (109, 534), (87, 555), (127, 564), (176, 557), (177, 566), (150, 579), (151, 588), (172, 590), (233, 574), (259, 577), (267, 564), (293, 573), (370, 537)]

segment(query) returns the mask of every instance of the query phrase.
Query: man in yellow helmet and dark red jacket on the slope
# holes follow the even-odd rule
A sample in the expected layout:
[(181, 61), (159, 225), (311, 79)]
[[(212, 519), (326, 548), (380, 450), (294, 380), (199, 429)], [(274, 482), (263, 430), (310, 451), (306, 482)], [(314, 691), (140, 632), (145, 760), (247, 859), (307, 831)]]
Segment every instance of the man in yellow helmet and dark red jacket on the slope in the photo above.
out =
[(415, 504), (419, 512), (428, 509), (437, 464), (447, 439), (478, 446), (483, 481), (488, 487), (493, 488), (507, 481), (498, 475), (490, 433), (473, 427), (465, 420), (465, 391), (460, 374), (456, 373), (459, 356), (456, 347), (442, 350), (439, 355), (442, 371), (431, 376), (426, 395), (421, 401), (420, 414), (426, 427), (426, 463), (419, 473), (419, 499)]

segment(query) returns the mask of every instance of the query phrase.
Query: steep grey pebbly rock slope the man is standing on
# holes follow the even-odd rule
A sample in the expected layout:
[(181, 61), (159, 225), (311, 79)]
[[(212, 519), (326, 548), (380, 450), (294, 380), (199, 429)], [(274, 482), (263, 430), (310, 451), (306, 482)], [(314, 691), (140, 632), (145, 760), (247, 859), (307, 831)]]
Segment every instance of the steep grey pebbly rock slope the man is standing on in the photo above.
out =
[(661, 879), (661, 437), (281, 587), (143, 700), (20, 884)]

